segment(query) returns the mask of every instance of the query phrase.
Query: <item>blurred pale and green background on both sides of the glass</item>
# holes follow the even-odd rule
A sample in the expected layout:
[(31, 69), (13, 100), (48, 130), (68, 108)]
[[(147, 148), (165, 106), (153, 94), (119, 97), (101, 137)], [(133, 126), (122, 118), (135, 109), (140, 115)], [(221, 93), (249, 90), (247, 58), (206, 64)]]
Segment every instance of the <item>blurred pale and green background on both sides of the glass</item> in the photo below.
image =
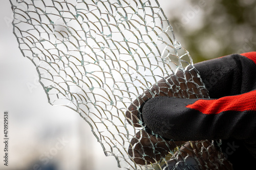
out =
[[(194, 63), (256, 50), (253, 0), (159, 3)], [(11, 5), (0, 4), (0, 169), (119, 169), (78, 113), (48, 104), (35, 66), (22, 56), (12, 33)], [(4, 111), (9, 112), (8, 166), (3, 162)]]

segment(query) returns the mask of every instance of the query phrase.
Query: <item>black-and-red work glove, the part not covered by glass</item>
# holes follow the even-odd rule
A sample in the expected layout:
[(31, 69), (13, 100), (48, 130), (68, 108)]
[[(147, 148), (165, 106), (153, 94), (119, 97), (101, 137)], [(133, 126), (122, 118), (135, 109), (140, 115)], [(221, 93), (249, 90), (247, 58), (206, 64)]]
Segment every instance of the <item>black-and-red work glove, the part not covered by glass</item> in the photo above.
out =
[(160, 96), (147, 100), (143, 122), (167, 139), (226, 139), (222, 151), (228, 160), (251, 162), (256, 158), (256, 52), (208, 60), (195, 67), (211, 99)]

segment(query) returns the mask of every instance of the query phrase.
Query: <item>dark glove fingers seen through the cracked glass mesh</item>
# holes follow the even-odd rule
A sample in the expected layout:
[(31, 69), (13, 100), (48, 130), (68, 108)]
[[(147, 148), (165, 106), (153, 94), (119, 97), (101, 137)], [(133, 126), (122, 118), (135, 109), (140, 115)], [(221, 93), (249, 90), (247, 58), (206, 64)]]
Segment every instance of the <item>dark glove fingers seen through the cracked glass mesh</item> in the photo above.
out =
[[(138, 98), (130, 105), (126, 111), (127, 122), (135, 127), (142, 127), (141, 123), (143, 125), (143, 118), (141, 116), (141, 112), (143, 105), (147, 100), (153, 98), (153, 96), (173, 96), (191, 99), (208, 98), (208, 91), (205, 89), (203, 82), (198, 76), (199, 72), (195, 69), (195, 67), (191, 66), (187, 67), (185, 72), (180, 69), (176, 75), (173, 74), (170, 75), (170, 77), (160, 80), (153, 85), (150, 90), (146, 90), (144, 95), (138, 96)], [(183, 154), (179, 155), (180, 159), (178, 160), (183, 159), (183, 156), (186, 153), (193, 153), (195, 155), (196, 152), (199, 153), (201, 150), (201, 148), (197, 148), (194, 152), (191, 152), (191, 150), (194, 149), (188, 149), (188, 146), (192, 144), (187, 143), (187, 141), (167, 141), (159, 138), (157, 135), (152, 135), (151, 132), (147, 132), (143, 129), (140, 130), (131, 140), (131, 144), (129, 146), (128, 153), (133, 158), (133, 161), (135, 161), (137, 164), (155, 163), (165, 157), (169, 150), (174, 150), (177, 146), (180, 148), (185, 142), (186, 143), (184, 145), (187, 146), (182, 147)], [(193, 141), (193, 145), (195, 145), (195, 143), (197, 142)], [(210, 144), (208, 141), (205, 141), (204, 145)], [(212, 153), (214, 153), (212, 155), (216, 156), (216, 154), (218, 155), (219, 152), (215, 151), (216, 149), (212, 149)], [(206, 165), (206, 160), (208, 161), (209, 159), (215, 159), (215, 156), (212, 155), (204, 156), (199, 161), (202, 162), (201, 164)], [(209, 164), (206, 166), (210, 167)]]

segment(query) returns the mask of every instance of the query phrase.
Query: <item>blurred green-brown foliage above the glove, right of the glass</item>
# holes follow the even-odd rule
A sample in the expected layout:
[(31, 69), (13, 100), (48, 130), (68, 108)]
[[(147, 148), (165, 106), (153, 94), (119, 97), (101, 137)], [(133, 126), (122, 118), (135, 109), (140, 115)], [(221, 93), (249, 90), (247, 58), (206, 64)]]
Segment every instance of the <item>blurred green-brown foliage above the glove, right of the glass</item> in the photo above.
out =
[(256, 1), (188, 0), (168, 16), (194, 63), (256, 50)]

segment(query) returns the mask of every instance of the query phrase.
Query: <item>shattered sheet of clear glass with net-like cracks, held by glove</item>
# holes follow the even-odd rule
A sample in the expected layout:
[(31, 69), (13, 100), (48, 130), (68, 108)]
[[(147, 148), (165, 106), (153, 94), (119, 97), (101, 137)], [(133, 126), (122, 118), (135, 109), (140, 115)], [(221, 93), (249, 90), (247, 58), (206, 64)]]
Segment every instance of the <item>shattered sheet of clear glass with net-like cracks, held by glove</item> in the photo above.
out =
[(229, 166), (214, 141), (146, 133), (139, 112), (146, 99), (208, 97), (157, 1), (10, 2), (19, 48), (36, 66), (49, 103), (77, 111), (119, 167)]

